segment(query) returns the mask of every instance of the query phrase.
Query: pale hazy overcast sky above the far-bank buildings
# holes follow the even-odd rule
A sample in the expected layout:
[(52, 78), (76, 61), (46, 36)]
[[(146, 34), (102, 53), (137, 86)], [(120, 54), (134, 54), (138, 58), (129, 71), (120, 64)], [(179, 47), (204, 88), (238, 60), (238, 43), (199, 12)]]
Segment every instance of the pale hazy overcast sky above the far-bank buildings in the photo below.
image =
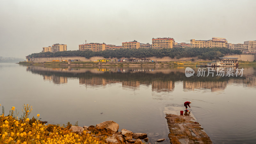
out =
[(0, 56), (18, 57), (42, 47), (172, 37), (256, 40), (256, 0), (0, 0)]

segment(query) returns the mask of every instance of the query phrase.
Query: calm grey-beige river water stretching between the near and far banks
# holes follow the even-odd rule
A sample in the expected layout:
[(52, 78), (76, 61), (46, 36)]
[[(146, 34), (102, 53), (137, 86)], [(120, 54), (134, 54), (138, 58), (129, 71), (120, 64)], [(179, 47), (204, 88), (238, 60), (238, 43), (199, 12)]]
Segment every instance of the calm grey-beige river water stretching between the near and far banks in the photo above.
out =
[(186, 77), (183, 67), (0, 63), (0, 103), (6, 114), (15, 106), (18, 116), (22, 105), (30, 104), (31, 116), (40, 114), (48, 124), (89, 126), (113, 120), (119, 131), (145, 132), (151, 143), (160, 138), (169, 143), (164, 110), (184, 110), (183, 103), (192, 101), (191, 112), (214, 143), (254, 143), (256, 67), (243, 68), (242, 77)]

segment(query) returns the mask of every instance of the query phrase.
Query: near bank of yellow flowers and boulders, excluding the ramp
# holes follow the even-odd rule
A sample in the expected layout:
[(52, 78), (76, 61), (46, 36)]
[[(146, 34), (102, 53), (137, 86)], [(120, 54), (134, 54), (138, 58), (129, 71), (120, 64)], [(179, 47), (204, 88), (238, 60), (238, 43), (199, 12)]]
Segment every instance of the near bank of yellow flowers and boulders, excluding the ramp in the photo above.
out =
[[(1, 106), (1, 104), (0, 104)], [(17, 111), (16, 111), (17, 112)], [(32, 112), (32, 106), (23, 105), (23, 116), (18, 118), (15, 113), (15, 107), (12, 107), (8, 116), (0, 116), (0, 143), (148, 143), (149, 139), (146, 133), (133, 133), (122, 129), (118, 132), (119, 124), (114, 121), (105, 121), (100, 124), (90, 126), (78, 126), (78, 122), (70, 124), (47, 124), (40, 120), (40, 114), (29, 119)], [(152, 142), (160, 142), (160, 139)], [(150, 143), (150, 142), (149, 142)]]

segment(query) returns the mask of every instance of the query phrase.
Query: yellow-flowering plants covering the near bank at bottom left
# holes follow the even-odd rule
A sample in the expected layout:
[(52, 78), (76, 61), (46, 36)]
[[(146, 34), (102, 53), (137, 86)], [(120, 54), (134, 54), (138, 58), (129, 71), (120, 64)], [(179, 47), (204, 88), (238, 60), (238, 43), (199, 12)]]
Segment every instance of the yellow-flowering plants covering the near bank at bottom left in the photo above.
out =
[[(1, 104), (0, 104), (1, 105)], [(36, 118), (33, 116), (28, 118), (32, 111), (32, 106), (23, 106), (23, 116), (18, 118), (14, 116), (15, 107), (12, 107), (8, 116), (3, 114), (0, 116), (0, 143), (16, 143), (16, 144), (39, 144), (39, 143), (83, 143), (97, 144), (106, 143), (106, 136), (101, 139), (95, 138), (92, 134), (110, 135), (110, 133), (102, 131), (91, 131), (92, 134), (83, 131), (82, 134), (74, 133), (69, 130), (72, 126), (69, 122), (67, 125), (59, 124), (45, 125), (39, 120), (39, 114)], [(77, 125), (77, 124), (76, 124)]]

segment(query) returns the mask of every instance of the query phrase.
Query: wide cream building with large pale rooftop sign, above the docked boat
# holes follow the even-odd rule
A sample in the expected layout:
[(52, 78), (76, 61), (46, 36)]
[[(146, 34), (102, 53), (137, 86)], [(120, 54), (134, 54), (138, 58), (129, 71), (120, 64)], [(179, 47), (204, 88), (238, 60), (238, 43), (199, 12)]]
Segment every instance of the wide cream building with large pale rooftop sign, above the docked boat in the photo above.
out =
[(190, 44), (192, 47), (227, 47), (228, 41), (226, 38), (212, 37), (210, 40), (195, 40), (191, 39)]

